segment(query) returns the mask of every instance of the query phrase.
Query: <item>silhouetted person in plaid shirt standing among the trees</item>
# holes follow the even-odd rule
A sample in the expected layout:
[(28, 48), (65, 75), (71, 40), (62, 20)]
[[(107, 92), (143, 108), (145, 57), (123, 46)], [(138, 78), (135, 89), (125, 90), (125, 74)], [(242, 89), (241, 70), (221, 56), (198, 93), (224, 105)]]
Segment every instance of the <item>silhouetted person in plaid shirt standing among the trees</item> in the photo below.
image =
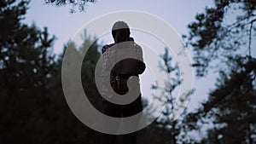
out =
[[(138, 77), (139, 74), (142, 74), (145, 70), (145, 64), (143, 63), (143, 50), (137, 43), (134, 42), (134, 39), (130, 37), (130, 34), (131, 32), (130, 32), (129, 26), (124, 21), (118, 21), (114, 23), (112, 28), (112, 36), (113, 36), (114, 43), (105, 45), (102, 48), (102, 55), (103, 55), (102, 72), (109, 71), (109, 68), (111, 69), (110, 70), (111, 71), (110, 72), (111, 87), (114, 90), (114, 92), (119, 95), (125, 95), (126, 93), (129, 92), (129, 90), (132, 90), (132, 89), (128, 89), (127, 80), (131, 78), (131, 76)], [(115, 53), (115, 51), (120, 49), (119, 43), (123, 43), (123, 42), (131, 43), (130, 47), (127, 47), (125, 49), (133, 50), (134, 54), (137, 55), (139, 59), (136, 60), (136, 59), (129, 58), (129, 59), (121, 60), (115, 66), (113, 66), (113, 68), (109, 67), (110, 66), (109, 63), (113, 62), (114, 60), (112, 59), (114, 59), (116, 56), (114, 54), (117, 54)], [(120, 46), (122, 46), (122, 44), (120, 44)], [(103, 84), (103, 91), (104, 90), (108, 91), (109, 89), (104, 89), (104, 84)], [(107, 95), (107, 96), (111, 96), (111, 95)], [(103, 103), (104, 103), (103, 113), (108, 116), (116, 117), (116, 118), (125, 118), (125, 117), (133, 116), (138, 112), (143, 111), (143, 105), (142, 105), (141, 99), (142, 99), (141, 95), (138, 95), (135, 101), (132, 101), (127, 105), (118, 105), (103, 99)], [(118, 130), (118, 128), (116, 129)], [(114, 144), (116, 141), (116, 135), (105, 134), (103, 136), (102, 141), (103, 141), (103, 144)], [(125, 144), (136, 144), (137, 132), (123, 135), (123, 142)]]

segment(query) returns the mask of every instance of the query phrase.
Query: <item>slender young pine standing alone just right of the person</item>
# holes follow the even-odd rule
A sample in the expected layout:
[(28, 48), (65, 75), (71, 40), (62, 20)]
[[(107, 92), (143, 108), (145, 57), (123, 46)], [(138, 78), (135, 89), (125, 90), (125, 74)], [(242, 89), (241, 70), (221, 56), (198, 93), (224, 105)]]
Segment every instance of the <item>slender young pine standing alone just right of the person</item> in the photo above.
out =
[[(152, 89), (159, 89), (160, 96), (154, 95), (154, 101), (160, 101), (165, 104), (164, 110), (161, 112), (159, 118), (154, 121), (154, 137), (157, 141), (153, 143), (163, 144), (178, 144), (178, 143), (192, 143), (188, 139), (183, 117), (186, 114), (185, 103), (189, 101), (189, 95), (193, 92), (189, 91), (188, 94), (176, 95), (175, 90), (182, 83), (181, 73), (178, 70), (177, 62), (172, 59), (170, 51), (166, 48), (165, 53), (160, 55), (163, 61), (160, 61), (160, 71), (166, 72), (168, 79), (165, 81), (165, 86), (162, 88), (158, 84), (154, 84)], [(177, 101), (181, 101), (181, 103)], [(154, 107), (153, 107), (154, 109)], [(184, 109), (180, 116), (179, 109)], [(157, 134), (156, 134), (157, 133)]]

